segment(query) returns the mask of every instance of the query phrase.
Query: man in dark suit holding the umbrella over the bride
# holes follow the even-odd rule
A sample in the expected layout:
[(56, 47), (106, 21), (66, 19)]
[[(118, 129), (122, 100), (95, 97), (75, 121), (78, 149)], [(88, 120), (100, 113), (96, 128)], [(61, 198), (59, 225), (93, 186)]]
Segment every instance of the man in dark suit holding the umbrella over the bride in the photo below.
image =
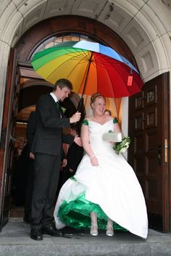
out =
[(80, 112), (65, 118), (59, 101), (70, 94), (72, 84), (59, 79), (51, 94), (42, 95), (36, 104), (36, 133), (32, 152), (35, 155), (35, 181), (31, 207), (30, 238), (42, 240), (43, 234), (59, 236), (54, 227), (54, 197), (57, 191), (62, 142), (71, 141), (62, 135), (62, 128), (80, 120)]

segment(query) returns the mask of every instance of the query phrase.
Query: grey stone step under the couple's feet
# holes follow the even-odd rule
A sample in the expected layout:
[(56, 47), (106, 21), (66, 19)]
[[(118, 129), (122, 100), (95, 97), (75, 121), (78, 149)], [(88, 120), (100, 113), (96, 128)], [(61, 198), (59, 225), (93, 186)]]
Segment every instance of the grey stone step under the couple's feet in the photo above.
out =
[(171, 234), (149, 229), (146, 240), (130, 233), (107, 237), (87, 232), (65, 231), (67, 238), (43, 235), (43, 241), (30, 239), (30, 226), (11, 219), (0, 233), (0, 256), (169, 256)]

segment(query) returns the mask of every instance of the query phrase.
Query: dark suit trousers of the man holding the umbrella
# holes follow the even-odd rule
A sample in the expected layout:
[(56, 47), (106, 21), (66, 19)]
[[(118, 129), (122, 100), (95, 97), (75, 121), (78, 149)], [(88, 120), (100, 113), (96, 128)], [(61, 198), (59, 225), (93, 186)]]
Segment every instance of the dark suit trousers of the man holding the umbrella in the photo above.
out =
[(53, 223), (60, 164), (60, 155), (35, 154), (31, 228), (49, 227)]

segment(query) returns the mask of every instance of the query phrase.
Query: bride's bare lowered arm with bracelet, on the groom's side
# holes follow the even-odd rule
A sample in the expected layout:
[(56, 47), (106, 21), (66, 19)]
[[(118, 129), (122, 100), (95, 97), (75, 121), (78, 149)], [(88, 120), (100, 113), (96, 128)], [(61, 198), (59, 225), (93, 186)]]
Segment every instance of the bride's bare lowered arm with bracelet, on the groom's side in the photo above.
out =
[(93, 153), (93, 150), (91, 149), (88, 125), (82, 125), (81, 126), (81, 135), (80, 136), (81, 136), (81, 140), (82, 140), (82, 143), (83, 143), (83, 149), (86, 151), (86, 153), (90, 157), (91, 164), (92, 165), (99, 165), (99, 162), (96, 158), (96, 155)]

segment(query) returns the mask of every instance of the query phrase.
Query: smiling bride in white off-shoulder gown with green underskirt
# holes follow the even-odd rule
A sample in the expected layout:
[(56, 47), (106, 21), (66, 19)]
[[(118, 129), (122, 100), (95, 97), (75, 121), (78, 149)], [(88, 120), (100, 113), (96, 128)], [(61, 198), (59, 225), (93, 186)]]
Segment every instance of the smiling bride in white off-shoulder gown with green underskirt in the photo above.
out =
[(60, 190), (54, 210), (57, 229), (64, 226), (90, 228), (92, 236), (107, 228), (126, 229), (146, 239), (148, 220), (141, 186), (128, 162), (117, 155), (112, 144), (102, 139), (112, 130), (120, 133), (117, 119), (105, 115), (106, 100), (91, 96), (93, 116), (83, 121), (81, 139), (86, 154), (75, 176)]

